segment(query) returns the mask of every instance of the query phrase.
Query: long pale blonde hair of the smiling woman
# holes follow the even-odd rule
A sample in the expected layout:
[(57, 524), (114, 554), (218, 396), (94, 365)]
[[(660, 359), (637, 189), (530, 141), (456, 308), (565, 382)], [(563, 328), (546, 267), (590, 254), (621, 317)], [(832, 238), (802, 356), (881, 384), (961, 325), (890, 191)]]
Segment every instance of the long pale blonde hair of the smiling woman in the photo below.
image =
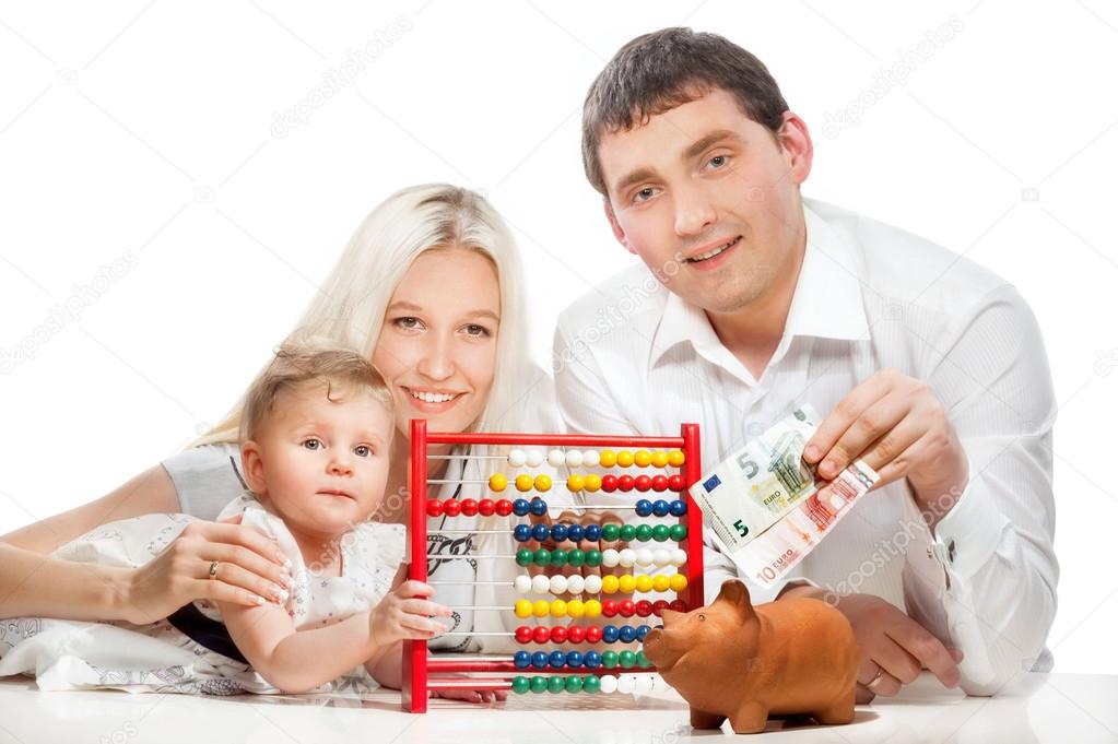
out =
[[(515, 430), (536, 380), (528, 349), (523, 268), (515, 241), (479, 193), (445, 183), (397, 191), (358, 227), (285, 342), (310, 336), (371, 360), (392, 293), (428, 250), (476, 250), (493, 263), (501, 296), (496, 365), (489, 401), (471, 430)], [(452, 290), (447, 287), (447, 290)], [(245, 398), (189, 447), (236, 442)]]

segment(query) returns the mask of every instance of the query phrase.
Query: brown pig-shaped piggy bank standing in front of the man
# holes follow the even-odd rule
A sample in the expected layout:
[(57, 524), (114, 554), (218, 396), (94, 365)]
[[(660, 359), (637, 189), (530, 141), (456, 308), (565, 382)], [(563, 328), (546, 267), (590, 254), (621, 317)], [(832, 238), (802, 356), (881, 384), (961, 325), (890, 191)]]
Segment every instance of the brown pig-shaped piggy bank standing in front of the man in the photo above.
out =
[(769, 714), (821, 724), (854, 719), (858, 647), (846, 618), (826, 602), (784, 599), (754, 607), (740, 581), (711, 604), (663, 612), (644, 654), (691, 705), (691, 725), (738, 734), (765, 729)]

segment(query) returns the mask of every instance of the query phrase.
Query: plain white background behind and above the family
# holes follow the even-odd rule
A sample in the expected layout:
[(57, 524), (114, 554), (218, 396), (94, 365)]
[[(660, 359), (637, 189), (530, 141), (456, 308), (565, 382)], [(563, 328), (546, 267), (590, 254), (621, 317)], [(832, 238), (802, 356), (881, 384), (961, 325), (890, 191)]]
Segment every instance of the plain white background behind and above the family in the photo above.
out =
[[(546, 363), (559, 309), (633, 260), (582, 177), (586, 88), (625, 41), (681, 22), (769, 66), (815, 136), (807, 195), (966, 254), (1032, 303), (1061, 404), (1049, 642), (1060, 671), (1118, 673), (1118, 10), (1099, 0), (4, 3), (0, 533), (217, 420), (407, 184), (470, 185), (508, 218)], [(352, 85), (273, 126), (389, 34)], [(898, 65), (907, 82), (874, 90)], [(49, 327), (67, 303), (80, 312)]]

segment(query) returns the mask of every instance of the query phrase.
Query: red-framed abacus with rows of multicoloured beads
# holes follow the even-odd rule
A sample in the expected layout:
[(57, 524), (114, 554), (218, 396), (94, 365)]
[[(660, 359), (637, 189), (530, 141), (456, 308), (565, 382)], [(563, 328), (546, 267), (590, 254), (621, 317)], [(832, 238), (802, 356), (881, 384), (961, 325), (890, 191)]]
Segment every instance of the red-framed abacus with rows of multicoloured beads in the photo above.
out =
[[(430, 445), (495, 445), (513, 447), (508, 457), (500, 455), (429, 455)], [(520, 449), (520, 448), (530, 449)], [(550, 448), (544, 454), (542, 450)], [(584, 449), (589, 448), (589, 449)], [(614, 451), (616, 448), (624, 448)], [(525, 543), (530, 540), (543, 541), (550, 538), (556, 543), (563, 541), (589, 542), (616, 541), (625, 543), (655, 543), (659, 547), (638, 547), (636, 550), (625, 547), (623, 550), (607, 549), (604, 551), (587, 550), (578, 547), (572, 550), (547, 550), (540, 547), (531, 551), (527, 547), (520, 549), (514, 555), (484, 555), (475, 554), (475, 560), (512, 560), (518, 565), (524, 567), (536, 566), (605, 566), (613, 569), (620, 566), (629, 569), (634, 566), (675, 566), (678, 572), (671, 576), (664, 574), (645, 575), (636, 573), (625, 573), (622, 575), (589, 575), (571, 576), (546, 575), (531, 576), (527, 573), (517, 575), (513, 589), (520, 594), (536, 593), (543, 594), (571, 594), (572, 599), (519, 599), (512, 607), (487, 607), (470, 605), (477, 611), (506, 611), (513, 612), (518, 618), (528, 620), (530, 618), (571, 618), (579, 620), (595, 620), (596, 618), (639, 618), (660, 617), (664, 609), (686, 611), (689, 608), (701, 607), (703, 604), (703, 580), (702, 580), (702, 514), (691, 499), (688, 489), (699, 479), (702, 467), (699, 454), (699, 426), (684, 423), (680, 428), (679, 437), (609, 437), (609, 436), (582, 436), (582, 435), (528, 435), (528, 433), (443, 433), (428, 432), (427, 422), (421, 419), (411, 421), (411, 450), (409, 464), (409, 487), (411, 492), (411, 514), (409, 551), (411, 565), (409, 578), (415, 581), (427, 581), (427, 518), (447, 515), (457, 516), (510, 516), (519, 517), (543, 516), (548, 513), (547, 502), (539, 495), (529, 498), (520, 497), (515, 499), (500, 497), (506, 489), (515, 488), (517, 492), (528, 495), (529, 492), (544, 494), (552, 487), (551, 477), (546, 474), (531, 475), (521, 473), (510, 483), (503, 473), (494, 473), (483, 480), (455, 480), (471, 486), (481, 486), (483, 494), (489, 489), (496, 494), (498, 498), (452, 498), (446, 500), (428, 498), (427, 487), (430, 484), (452, 483), (451, 480), (429, 479), (427, 476), (427, 460), (429, 457), (439, 458), (470, 458), (500, 459), (505, 460), (512, 468), (536, 468), (544, 461), (551, 467), (566, 466), (568, 468), (605, 468), (619, 467), (622, 469), (637, 467), (642, 470), (653, 468), (660, 470), (654, 476), (642, 473), (641, 475), (613, 474), (578, 474), (571, 473), (567, 477), (566, 487), (572, 494), (581, 493), (584, 504), (576, 508), (580, 511), (625, 511), (635, 512), (639, 517), (679, 517), (676, 524), (650, 524), (634, 525), (625, 523), (623, 525), (590, 524), (585, 527), (580, 524), (531, 524), (519, 523), (511, 530), (514, 541)], [(669, 468), (674, 468), (673, 475), (664, 475)], [(632, 505), (598, 505), (595, 506), (586, 498), (596, 492), (653, 492), (655, 495), (674, 495), (673, 500), (666, 498), (639, 498)], [(669, 541), (676, 547), (669, 549)], [(475, 582), (476, 583), (476, 582)], [(674, 592), (676, 599), (656, 600), (646, 599), (633, 601), (624, 599), (617, 601), (609, 595), (617, 592), (628, 594), (632, 592)], [(591, 595), (591, 599), (582, 600), (580, 595)], [(686, 599), (684, 599), (686, 598)], [(579, 643), (631, 643), (643, 641), (651, 626), (637, 621), (636, 624), (614, 624), (599, 626), (593, 622), (586, 624), (555, 626), (522, 624), (515, 631), (493, 633), (509, 636), (520, 645), (543, 646), (553, 643), (556, 646), (578, 646)], [(448, 633), (449, 635), (449, 633)], [(476, 631), (462, 631), (462, 635), (482, 635)], [(530, 669), (536, 674), (528, 676)], [(626, 670), (627, 674), (620, 674)], [(547, 675), (539, 674), (547, 671)], [(585, 674), (584, 674), (585, 671)], [(425, 713), (427, 710), (427, 697), (430, 690), (446, 690), (452, 688), (487, 689), (487, 690), (511, 690), (517, 694), (525, 693), (632, 693), (652, 688), (653, 678), (651, 674), (655, 669), (644, 657), (643, 651), (623, 650), (620, 652), (606, 650), (598, 652), (587, 650), (585, 654), (577, 649), (559, 650), (550, 652), (537, 650), (517, 651), (512, 658), (506, 657), (481, 657), (438, 659), (428, 656), (427, 641), (409, 640), (404, 643), (404, 680), (402, 680), (402, 707), (411, 713)], [(448, 674), (485, 674), (475, 677), (445, 677), (439, 675)], [(641, 674), (633, 674), (641, 673)]]

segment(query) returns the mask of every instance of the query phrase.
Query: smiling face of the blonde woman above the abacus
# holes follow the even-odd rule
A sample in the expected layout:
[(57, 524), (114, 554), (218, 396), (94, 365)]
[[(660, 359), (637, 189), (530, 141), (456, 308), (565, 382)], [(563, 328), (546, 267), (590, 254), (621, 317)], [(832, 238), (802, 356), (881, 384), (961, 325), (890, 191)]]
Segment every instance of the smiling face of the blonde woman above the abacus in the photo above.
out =
[(482, 254), (428, 250), (404, 275), (385, 315), (372, 362), (396, 398), (396, 427), (466, 430), (485, 408), (496, 364), (501, 296)]

